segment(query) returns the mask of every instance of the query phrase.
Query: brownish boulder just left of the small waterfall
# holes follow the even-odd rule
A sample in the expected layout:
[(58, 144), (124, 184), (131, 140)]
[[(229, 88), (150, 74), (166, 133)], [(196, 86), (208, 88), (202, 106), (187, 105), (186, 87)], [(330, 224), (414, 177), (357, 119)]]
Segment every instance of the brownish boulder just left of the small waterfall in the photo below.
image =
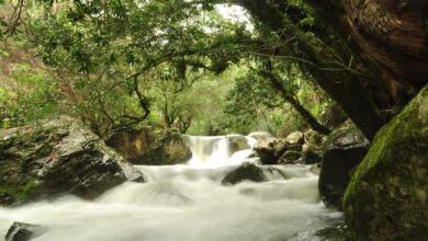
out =
[(161, 134), (148, 129), (123, 130), (106, 144), (133, 164), (179, 164), (192, 158), (185, 136), (173, 129)]

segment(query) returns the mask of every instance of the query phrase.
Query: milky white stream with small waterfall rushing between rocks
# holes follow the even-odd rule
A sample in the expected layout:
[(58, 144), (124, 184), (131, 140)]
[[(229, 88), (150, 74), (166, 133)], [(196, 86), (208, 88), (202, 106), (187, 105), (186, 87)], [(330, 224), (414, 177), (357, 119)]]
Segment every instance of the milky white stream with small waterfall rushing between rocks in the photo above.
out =
[(262, 167), (268, 182), (225, 186), (222, 179), (251, 149), (232, 153), (227, 137), (189, 139), (188, 164), (137, 165), (146, 183), (124, 183), (92, 202), (64, 196), (0, 208), (0, 236), (23, 221), (46, 227), (35, 241), (315, 240), (311, 233), (341, 218), (320, 203), (312, 167)]

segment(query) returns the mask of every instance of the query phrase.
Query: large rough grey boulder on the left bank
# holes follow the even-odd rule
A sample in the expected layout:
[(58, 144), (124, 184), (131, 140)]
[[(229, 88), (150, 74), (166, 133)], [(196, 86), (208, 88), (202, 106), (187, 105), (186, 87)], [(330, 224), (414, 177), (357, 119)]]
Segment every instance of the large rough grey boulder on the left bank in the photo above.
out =
[(77, 119), (60, 116), (0, 131), (0, 205), (60, 193), (95, 198), (138, 170)]

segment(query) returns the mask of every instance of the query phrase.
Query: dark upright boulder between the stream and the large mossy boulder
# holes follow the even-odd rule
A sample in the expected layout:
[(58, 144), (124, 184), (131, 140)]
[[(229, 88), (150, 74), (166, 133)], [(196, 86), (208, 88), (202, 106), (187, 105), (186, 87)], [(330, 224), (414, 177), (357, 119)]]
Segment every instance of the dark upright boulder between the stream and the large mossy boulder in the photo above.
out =
[(341, 208), (341, 200), (350, 181), (350, 172), (364, 158), (369, 141), (350, 123), (331, 131), (323, 145), (323, 162), (318, 188), (327, 206)]

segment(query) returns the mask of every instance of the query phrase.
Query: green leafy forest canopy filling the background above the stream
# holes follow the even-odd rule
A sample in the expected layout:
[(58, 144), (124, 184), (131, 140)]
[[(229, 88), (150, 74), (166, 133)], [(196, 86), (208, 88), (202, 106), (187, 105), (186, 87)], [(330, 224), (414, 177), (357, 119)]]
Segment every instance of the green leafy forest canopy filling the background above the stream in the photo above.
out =
[[(1, 118), (15, 126), (67, 114), (105, 138), (140, 127), (327, 135), (337, 105), (312, 68), (360, 74), (351, 54), (329, 46), (335, 33), (318, 37), (319, 19), (303, 1), (289, 1), (277, 28), (248, 5), (239, 21), (215, 3), (3, 2)], [(313, 62), (306, 45), (328, 66)]]

